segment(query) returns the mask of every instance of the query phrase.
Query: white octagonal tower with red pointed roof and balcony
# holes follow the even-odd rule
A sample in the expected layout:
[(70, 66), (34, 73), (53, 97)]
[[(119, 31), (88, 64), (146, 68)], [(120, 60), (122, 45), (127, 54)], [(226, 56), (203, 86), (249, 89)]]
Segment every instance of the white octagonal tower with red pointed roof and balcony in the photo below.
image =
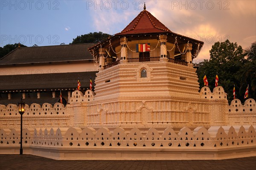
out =
[[(122, 32), (92, 46), (99, 72), (89, 125), (204, 126), (224, 123), (211, 117), (212, 99), (199, 94), (192, 60), (203, 42), (170, 31), (145, 7)], [(225, 95), (225, 94), (224, 94)], [(226, 97), (218, 106), (226, 107)]]

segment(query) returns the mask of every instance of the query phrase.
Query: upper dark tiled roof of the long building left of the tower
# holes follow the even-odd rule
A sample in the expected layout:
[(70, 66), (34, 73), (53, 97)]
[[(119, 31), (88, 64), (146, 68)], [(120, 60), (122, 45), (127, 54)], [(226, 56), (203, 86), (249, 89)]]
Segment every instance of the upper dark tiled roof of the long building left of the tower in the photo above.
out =
[(88, 51), (88, 48), (94, 44), (84, 43), (17, 48), (0, 59), (0, 65), (93, 60), (93, 56)]

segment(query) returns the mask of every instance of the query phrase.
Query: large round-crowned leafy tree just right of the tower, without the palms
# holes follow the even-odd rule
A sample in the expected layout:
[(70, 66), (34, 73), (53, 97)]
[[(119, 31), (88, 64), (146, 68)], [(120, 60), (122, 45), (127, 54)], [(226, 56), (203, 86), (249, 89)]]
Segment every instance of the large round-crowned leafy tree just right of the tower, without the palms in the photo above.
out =
[(243, 49), (237, 43), (231, 43), (229, 40), (225, 42), (216, 42), (212, 46), (210, 59), (199, 63), (197, 69), (200, 88), (204, 86), (203, 77), (207, 76), (209, 88), (215, 87), (215, 76), (218, 75), (219, 86), (222, 86), (227, 92), (228, 100), (233, 99), (233, 86), (239, 86), (240, 81), (237, 80), (236, 74), (241, 68), (244, 68), (246, 59), (244, 58)]

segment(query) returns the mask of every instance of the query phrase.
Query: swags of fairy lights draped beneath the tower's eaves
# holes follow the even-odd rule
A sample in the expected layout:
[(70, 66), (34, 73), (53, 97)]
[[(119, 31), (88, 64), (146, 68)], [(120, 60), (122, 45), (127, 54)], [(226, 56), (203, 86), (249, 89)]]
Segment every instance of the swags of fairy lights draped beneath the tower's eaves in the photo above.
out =
[[(153, 49), (150, 49), (150, 51), (154, 51), (157, 49), (157, 47), (159, 46), (160, 43), (164, 42), (162, 39), (161, 39), (161, 35), (158, 35), (159, 39), (157, 41), (157, 45), (153, 48)], [(137, 52), (136, 50), (133, 50), (129, 45), (128, 45), (128, 42), (127, 42), (127, 38), (124, 37), (124, 44), (126, 45), (126, 47), (124, 46), (121, 46), (121, 49), (119, 52), (116, 52), (114, 49), (113, 49), (113, 46), (111, 44), (111, 39), (108, 40), (107, 42), (109, 42), (109, 46), (108, 46), (108, 50), (105, 50), (107, 52), (107, 55), (102, 55), (102, 44), (100, 44), (100, 48), (99, 48), (99, 54), (95, 55), (94, 53), (94, 50), (92, 49), (90, 52), (92, 53), (93, 55), (93, 61), (94, 61), (94, 66), (97, 66), (98, 63), (99, 63), (99, 57), (102, 55), (104, 58), (108, 58), (108, 57), (111, 57), (110, 55), (110, 52), (111, 50), (113, 51), (113, 53), (115, 53), (116, 55), (121, 53), (122, 52), (122, 48), (128, 48), (131, 52)], [(104, 44), (104, 43), (103, 43)], [(187, 52), (190, 52), (189, 50), (189, 41), (186, 43), (186, 47), (185, 47), (185, 50), (182, 52), (182, 50), (180, 49), (179, 47), (179, 44), (177, 42), (177, 37), (175, 37), (175, 43), (173, 44), (172, 48), (171, 49), (167, 49), (166, 46), (163, 46), (164, 49), (166, 49), (166, 51), (170, 52), (172, 51), (175, 47), (177, 46), (177, 49), (179, 50), (180, 54), (181, 55), (184, 55), (186, 54)], [(196, 60), (198, 61), (198, 53), (200, 51), (200, 44), (198, 43), (198, 46), (197, 46), (197, 49), (196, 49), (196, 52), (195, 52), (195, 55), (192, 55), (191, 56)]]

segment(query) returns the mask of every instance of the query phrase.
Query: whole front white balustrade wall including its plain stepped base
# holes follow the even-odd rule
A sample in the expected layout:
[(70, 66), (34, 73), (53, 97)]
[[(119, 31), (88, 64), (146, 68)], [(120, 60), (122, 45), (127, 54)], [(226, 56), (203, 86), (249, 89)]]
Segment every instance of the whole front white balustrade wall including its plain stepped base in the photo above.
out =
[[(18, 150), (19, 142), (19, 130), (0, 130), (1, 154)], [(171, 127), (162, 133), (154, 127), (146, 130), (134, 127), (128, 132), (120, 127), (112, 131), (106, 127), (23, 130), (24, 153), (55, 159), (231, 158), (255, 156), (255, 145), (255, 127), (247, 125), (214, 126), (208, 130), (196, 127), (193, 131), (183, 127), (178, 133)], [(140, 157), (134, 158), (135, 155)]]

